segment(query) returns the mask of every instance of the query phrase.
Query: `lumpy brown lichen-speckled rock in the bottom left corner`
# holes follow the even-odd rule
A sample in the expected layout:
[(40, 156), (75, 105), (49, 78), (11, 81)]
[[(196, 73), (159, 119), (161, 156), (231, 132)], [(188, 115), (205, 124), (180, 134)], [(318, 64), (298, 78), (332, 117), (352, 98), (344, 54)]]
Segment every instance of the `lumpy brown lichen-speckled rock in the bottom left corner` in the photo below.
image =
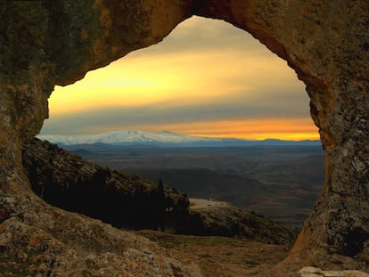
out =
[[(175, 277), (178, 273), (201, 276), (196, 265), (184, 266), (162, 257), (159, 248), (139, 236), (88, 218), (59, 216), (71, 217), (78, 223), (74, 226), (62, 220), (53, 223), (69, 228), (61, 231), (74, 236), (68, 243), (14, 217), (0, 224), (0, 271), (3, 276)], [(43, 220), (42, 216), (40, 219)], [(102, 247), (102, 240), (108, 245)]]

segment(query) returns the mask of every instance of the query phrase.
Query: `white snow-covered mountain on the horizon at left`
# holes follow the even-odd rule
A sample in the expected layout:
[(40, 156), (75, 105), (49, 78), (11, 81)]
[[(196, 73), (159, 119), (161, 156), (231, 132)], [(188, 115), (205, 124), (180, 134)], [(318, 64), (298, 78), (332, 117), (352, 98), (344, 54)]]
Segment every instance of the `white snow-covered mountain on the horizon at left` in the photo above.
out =
[(102, 134), (76, 135), (37, 135), (50, 143), (85, 144), (85, 143), (210, 143), (222, 142), (224, 139), (206, 138), (187, 134), (176, 134), (168, 131), (148, 133), (142, 131), (115, 131)]

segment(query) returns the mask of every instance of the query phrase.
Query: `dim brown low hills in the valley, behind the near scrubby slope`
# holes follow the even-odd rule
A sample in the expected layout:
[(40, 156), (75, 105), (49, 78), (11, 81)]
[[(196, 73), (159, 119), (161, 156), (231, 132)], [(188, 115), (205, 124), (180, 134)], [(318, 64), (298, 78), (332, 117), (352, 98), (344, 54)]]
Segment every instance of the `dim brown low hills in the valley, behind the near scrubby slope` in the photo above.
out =
[[(300, 227), (321, 190), (323, 174), (316, 170), (321, 157), (293, 163), (270, 163), (247, 176), (208, 168), (131, 169), (131, 174), (148, 180), (162, 178), (191, 198), (213, 198), (232, 203), (246, 211), (256, 211), (286, 224)], [(304, 167), (310, 163), (309, 167)], [(294, 168), (295, 167), (298, 168)]]

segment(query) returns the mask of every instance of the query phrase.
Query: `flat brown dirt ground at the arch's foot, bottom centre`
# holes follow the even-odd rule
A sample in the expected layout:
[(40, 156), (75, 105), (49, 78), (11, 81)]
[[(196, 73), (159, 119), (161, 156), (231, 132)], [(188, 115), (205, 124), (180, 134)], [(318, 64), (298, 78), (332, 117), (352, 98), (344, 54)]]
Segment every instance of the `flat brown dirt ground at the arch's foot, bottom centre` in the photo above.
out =
[(268, 276), (287, 256), (291, 246), (264, 244), (225, 237), (178, 235), (138, 231), (167, 250), (166, 255), (183, 264), (197, 264), (206, 277)]

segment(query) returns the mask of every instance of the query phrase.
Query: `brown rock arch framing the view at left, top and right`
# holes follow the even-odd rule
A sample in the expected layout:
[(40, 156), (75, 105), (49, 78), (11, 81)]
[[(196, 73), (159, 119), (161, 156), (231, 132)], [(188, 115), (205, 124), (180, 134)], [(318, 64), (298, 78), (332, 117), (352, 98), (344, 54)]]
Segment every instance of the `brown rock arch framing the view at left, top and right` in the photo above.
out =
[[(22, 249), (32, 250), (31, 234), (35, 234), (37, 241), (53, 245), (49, 251), (77, 255), (73, 265), (86, 265), (87, 244), (81, 240), (71, 247), (70, 240), (77, 238), (76, 226), (82, 225), (82, 233), (95, 240), (94, 221), (51, 208), (33, 194), (21, 165), (22, 144), (39, 132), (47, 118), (47, 98), (54, 85), (71, 84), (88, 70), (158, 43), (176, 24), (197, 14), (227, 20), (250, 32), (286, 60), (307, 85), (311, 116), (325, 151), (325, 183), (313, 214), (278, 271), (290, 268), (297, 274), (299, 265), (368, 270), (368, 10), (369, 2), (351, 0), (2, 1), (2, 257), (11, 255), (4, 249), (11, 248), (16, 236), (30, 243), (22, 244)], [(101, 228), (103, 233), (115, 232)], [(108, 237), (102, 235), (103, 241), (96, 243), (100, 249), (105, 245), (101, 251), (115, 253), (102, 254), (111, 261), (120, 252), (107, 250), (113, 241)], [(50, 268), (55, 265), (48, 261)]]

